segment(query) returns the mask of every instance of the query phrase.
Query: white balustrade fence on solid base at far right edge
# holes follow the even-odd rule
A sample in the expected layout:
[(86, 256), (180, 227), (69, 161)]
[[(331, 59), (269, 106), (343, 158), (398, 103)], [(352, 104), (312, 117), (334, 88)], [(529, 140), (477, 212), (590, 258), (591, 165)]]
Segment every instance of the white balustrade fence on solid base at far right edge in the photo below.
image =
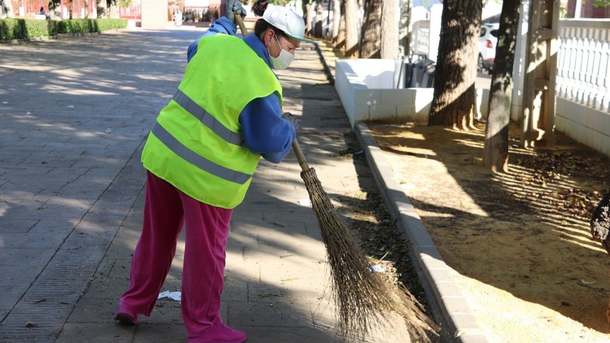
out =
[(610, 20), (561, 20), (555, 129), (610, 156)]

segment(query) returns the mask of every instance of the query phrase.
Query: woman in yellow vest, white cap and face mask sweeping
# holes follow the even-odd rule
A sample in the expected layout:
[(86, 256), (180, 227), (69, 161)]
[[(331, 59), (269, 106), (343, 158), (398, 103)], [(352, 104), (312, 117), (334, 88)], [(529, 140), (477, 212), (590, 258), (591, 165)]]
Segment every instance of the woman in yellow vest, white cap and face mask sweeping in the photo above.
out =
[(284, 69), (305, 41), (304, 22), (285, 7), (257, 1), (254, 34), (235, 37), (233, 11), (193, 42), (178, 91), (157, 117), (142, 162), (147, 170), (143, 229), (131, 264), (129, 288), (115, 319), (150, 316), (170, 270), (183, 224), (182, 317), (188, 342), (243, 342), (223, 324), (225, 247), (232, 209), (240, 204), (260, 156), (279, 163), (295, 139), (296, 121), (282, 117)]

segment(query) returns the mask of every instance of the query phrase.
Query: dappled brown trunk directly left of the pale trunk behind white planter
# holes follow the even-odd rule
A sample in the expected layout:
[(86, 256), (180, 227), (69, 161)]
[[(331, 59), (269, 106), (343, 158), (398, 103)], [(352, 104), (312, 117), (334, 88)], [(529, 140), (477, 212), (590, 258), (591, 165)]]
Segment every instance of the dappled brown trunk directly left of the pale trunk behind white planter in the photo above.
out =
[(367, 0), (364, 3), (364, 23), (360, 43), (361, 59), (378, 59), (381, 57), (381, 2)]

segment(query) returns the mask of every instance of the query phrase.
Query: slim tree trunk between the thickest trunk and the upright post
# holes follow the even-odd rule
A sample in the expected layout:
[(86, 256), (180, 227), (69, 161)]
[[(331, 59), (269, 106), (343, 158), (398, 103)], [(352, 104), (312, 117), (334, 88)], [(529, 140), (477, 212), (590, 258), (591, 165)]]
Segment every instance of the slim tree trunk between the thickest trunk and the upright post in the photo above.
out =
[(489, 91), (483, 165), (497, 173), (508, 171), (508, 123), (511, 120), (512, 68), (515, 62), (521, 1), (504, 0), (498, 45)]

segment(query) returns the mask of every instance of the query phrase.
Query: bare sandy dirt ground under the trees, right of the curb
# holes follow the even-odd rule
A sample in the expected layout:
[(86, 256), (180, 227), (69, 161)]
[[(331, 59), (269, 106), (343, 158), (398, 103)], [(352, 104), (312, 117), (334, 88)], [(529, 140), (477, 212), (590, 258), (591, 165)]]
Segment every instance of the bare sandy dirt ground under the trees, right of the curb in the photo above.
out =
[(610, 256), (589, 229), (607, 157), (561, 134), (517, 148), (515, 126), (510, 171), (494, 175), (483, 125), (369, 126), (490, 341), (610, 341)]

